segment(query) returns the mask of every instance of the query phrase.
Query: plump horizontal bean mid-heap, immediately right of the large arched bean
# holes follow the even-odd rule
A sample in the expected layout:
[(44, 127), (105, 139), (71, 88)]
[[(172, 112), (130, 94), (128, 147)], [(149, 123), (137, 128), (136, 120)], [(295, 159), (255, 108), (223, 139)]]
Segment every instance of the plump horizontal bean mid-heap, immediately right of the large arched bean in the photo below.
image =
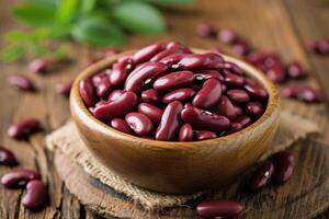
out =
[(154, 83), (157, 91), (171, 91), (181, 87), (189, 87), (194, 81), (192, 71), (177, 71), (158, 78)]

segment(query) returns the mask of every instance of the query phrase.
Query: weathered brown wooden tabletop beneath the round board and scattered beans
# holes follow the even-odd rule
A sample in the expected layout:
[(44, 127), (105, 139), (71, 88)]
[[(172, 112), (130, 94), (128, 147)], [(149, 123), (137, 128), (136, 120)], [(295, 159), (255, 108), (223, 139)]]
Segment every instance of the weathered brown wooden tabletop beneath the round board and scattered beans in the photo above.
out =
[[(0, 34), (16, 27), (9, 18), (12, 1), (0, 0)], [(138, 48), (155, 41), (179, 41), (189, 46), (212, 48), (220, 46), (216, 41), (206, 41), (195, 34), (195, 25), (209, 22), (216, 27), (230, 27), (246, 36), (257, 48), (274, 50), (282, 54), (285, 60), (296, 59), (303, 64), (310, 77), (307, 82), (318, 87), (320, 82), (326, 96), (329, 97), (329, 58), (307, 54), (304, 42), (329, 35), (329, 4), (326, 0), (200, 0), (196, 5), (188, 9), (164, 9), (169, 32), (161, 36), (134, 36), (127, 48)], [(1, 42), (3, 46), (3, 42)], [(72, 197), (58, 177), (52, 154), (45, 151), (44, 136), (61, 126), (70, 116), (68, 100), (56, 94), (54, 87), (57, 82), (69, 81), (79, 73), (87, 60), (94, 55), (94, 50), (71, 45), (70, 56), (73, 64), (58, 72), (47, 76), (35, 76), (29, 72), (29, 59), (13, 65), (0, 65), (0, 128), (1, 145), (11, 148), (22, 166), (37, 169), (48, 183), (49, 203), (39, 212), (25, 210), (21, 203), (23, 191), (9, 191), (0, 186), (0, 218), (97, 218), (86, 210)], [(5, 78), (11, 73), (24, 73), (37, 84), (37, 93), (19, 92), (10, 88)], [(327, 99), (328, 100), (328, 99)], [(329, 112), (324, 106), (305, 105), (297, 102), (283, 101), (284, 108), (296, 112), (304, 117), (316, 120), (322, 130), (320, 136), (309, 139), (313, 147), (320, 147), (321, 153), (329, 153)], [(15, 141), (7, 136), (7, 129), (12, 122), (23, 117), (37, 117), (43, 122), (45, 131), (34, 135), (27, 142)], [(299, 142), (299, 145), (303, 142)], [(328, 148), (327, 148), (328, 147)], [(293, 152), (298, 160), (317, 159), (319, 155), (310, 150), (299, 150), (294, 147)], [(307, 154), (304, 154), (306, 153)], [(318, 168), (324, 170), (328, 160), (319, 160)], [(325, 166), (326, 168), (326, 166)], [(0, 175), (10, 169), (1, 166)], [(329, 173), (328, 173), (329, 174)], [(307, 181), (307, 178), (304, 181)], [(328, 177), (326, 182), (329, 184)], [(296, 185), (300, 186), (300, 185)], [(324, 201), (329, 201), (328, 197)], [(300, 206), (304, 207), (304, 206)], [(298, 209), (296, 209), (298, 210)], [(328, 218), (329, 210), (316, 209), (319, 218)]]

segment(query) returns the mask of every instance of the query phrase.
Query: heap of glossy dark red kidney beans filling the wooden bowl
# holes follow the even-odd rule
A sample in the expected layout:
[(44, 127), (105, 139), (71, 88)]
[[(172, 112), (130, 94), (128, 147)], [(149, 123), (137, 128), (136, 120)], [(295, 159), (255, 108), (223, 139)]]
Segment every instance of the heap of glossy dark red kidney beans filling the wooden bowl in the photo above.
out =
[(219, 54), (156, 43), (80, 81), (92, 115), (126, 134), (193, 141), (238, 131), (264, 112), (268, 93)]

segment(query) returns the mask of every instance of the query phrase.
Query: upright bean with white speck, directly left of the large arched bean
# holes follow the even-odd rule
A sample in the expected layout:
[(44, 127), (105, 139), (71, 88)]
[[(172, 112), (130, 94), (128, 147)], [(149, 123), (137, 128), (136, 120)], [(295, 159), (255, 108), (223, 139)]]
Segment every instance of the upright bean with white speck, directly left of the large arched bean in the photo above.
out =
[(121, 85), (125, 82), (128, 73), (134, 68), (134, 60), (129, 57), (121, 59), (113, 65), (113, 70), (110, 73), (110, 82), (113, 85)]

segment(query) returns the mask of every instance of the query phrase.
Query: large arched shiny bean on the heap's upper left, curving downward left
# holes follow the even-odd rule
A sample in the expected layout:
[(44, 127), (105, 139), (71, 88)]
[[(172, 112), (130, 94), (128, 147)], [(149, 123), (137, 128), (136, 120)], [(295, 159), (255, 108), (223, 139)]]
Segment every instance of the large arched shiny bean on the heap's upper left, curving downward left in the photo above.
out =
[(168, 67), (161, 62), (145, 62), (136, 68), (125, 82), (125, 90), (139, 92), (148, 80), (161, 77)]

